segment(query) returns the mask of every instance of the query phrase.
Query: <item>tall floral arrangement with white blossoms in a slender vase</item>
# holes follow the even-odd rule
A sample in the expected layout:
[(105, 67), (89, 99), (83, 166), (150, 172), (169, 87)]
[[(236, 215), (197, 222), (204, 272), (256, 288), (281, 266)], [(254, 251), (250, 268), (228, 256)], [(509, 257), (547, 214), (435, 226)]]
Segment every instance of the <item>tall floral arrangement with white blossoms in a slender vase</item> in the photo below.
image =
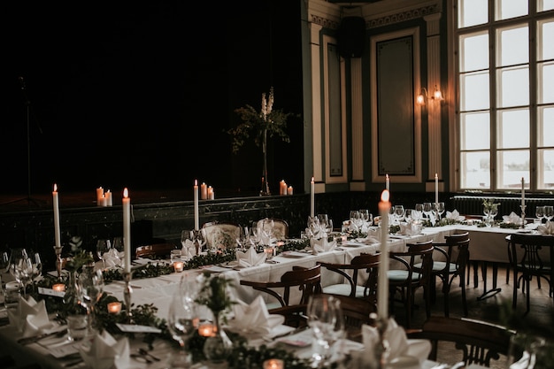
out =
[(284, 112), (273, 109), (274, 94), (273, 87), (269, 94), (262, 93), (262, 104), (260, 111), (250, 105), (235, 109), (235, 112), (242, 119), (242, 123), (227, 130), (232, 137), (233, 152), (237, 153), (244, 143), (254, 139), (256, 146), (262, 149), (262, 189), (260, 195), (271, 195), (267, 174), (267, 139), (280, 137), (282, 142), (290, 142), (289, 135), (285, 131), (290, 117), (296, 116), (291, 112)]

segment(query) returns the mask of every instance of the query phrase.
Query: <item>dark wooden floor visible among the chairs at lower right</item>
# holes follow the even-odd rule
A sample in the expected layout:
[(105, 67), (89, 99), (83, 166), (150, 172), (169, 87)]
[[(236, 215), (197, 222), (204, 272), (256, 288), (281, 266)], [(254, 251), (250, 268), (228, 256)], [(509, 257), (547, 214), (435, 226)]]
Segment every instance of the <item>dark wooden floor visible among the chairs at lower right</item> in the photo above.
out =
[[(492, 268), (488, 268), (487, 281), (488, 288), (492, 288)], [(481, 274), (481, 273), (480, 273)], [(506, 282), (506, 268), (504, 266), (499, 267), (497, 276), (497, 288), (500, 288), (500, 292), (494, 296), (490, 296), (486, 299), (478, 299), (483, 293), (483, 280), (481, 275), (479, 277), (479, 285), (477, 288), (473, 287), (473, 273), (471, 284), (466, 286), (466, 298), (468, 304), (468, 319), (484, 320), (489, 323), (505, 326), (506, 320), (504, 319), (502, 311), (508, 311), (511, 316), (511, 323), (509, 327), (519, 331), (526, 331), (543, 337), (554, 339), (554, 299), (549, 296), (548, 282), (542, 281), (542, 288), (537, 287), (537, 282), (531, 281), (531, 304), (530, 311), (525, 314), (526, 311), (526, 296), (518, 291), (518, 305), (515, 311), (512, 311), (512, 293), (513, 293), (513, 281), (512, 275), (510, 275), (510, 281)], [(437, 290), (440, 286), (437, 286)], [(461, 289), (456, 283), (452, 285), (452, 291), (450, 292), (450, 317), (463, 317), (463, 310), (461, 304)], [(422, 293), (419, 292), (416, 296), (416, 304), (419, 305), (419, 309), (415, 311), (412, 318), (412, 327), (421, 327), (421, 324), (426, 319)], [(396, 309), (395, 319), (400, 325), (404, 325), (404, 313), (399, 305)], [(443, 299), (442, 293), (437, 293), (437, 299), (432, 306), (432, 315), (443, 316)], [(453, 348), (446, 348), (442, 350), (442, 355), (438, 357), (438, 361), (445, 363), (456, 363), (458, 360), (454, 357)], [(440, 350), (439, 350), (440, 353)], [(491, 365), (495, 369), (504, 369), (504, 359)]]

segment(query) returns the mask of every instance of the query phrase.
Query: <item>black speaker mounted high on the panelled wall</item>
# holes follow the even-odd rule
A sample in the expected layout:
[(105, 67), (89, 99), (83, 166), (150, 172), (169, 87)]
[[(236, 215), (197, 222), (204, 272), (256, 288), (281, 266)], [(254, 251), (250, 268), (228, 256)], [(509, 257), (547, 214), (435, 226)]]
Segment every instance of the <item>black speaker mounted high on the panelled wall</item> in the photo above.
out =
[(364, 53), (365, 20), (362, 17), (344, 17), (337, 33), (339, 54), (342, 58), (361, 58)]

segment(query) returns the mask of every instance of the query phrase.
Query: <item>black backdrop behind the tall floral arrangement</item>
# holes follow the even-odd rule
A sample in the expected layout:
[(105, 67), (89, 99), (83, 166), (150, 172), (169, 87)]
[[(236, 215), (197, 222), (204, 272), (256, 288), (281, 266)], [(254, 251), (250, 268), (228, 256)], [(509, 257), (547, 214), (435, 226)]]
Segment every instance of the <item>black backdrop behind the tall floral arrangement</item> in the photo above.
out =
[[(300, 4), (32, 2), (3, 4), (0, 154), (5, 193), (31, 196), (186, 188), (257, 193), (261, 149), (231, 152), (234, 110), (273, 86), (274, 109), (302, 111)], [(25, 88), (19, 81), (23, 77)], [(270, 142), (273, 193), (304, 188), (303, 122)], [(117, 197), (117, 196), (116, 196)]]

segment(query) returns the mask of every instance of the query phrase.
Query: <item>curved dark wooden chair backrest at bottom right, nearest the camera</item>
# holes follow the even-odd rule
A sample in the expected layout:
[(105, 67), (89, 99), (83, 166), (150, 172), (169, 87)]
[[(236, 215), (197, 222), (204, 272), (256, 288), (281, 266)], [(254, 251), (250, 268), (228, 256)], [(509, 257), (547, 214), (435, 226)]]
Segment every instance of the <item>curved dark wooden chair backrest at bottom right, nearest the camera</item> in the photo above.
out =
[(454, 342), (462, 352), (467, 365), (490, 366), (490, 360), (507, 355), (510, 337), (515, 334), (505, 327), (495, 326), (480, 320), (431, 317), (421, 329), (412, 329), (408, 338), (423, 338), (431, 342), (429, 359), (436, 360), (440, 342)]

